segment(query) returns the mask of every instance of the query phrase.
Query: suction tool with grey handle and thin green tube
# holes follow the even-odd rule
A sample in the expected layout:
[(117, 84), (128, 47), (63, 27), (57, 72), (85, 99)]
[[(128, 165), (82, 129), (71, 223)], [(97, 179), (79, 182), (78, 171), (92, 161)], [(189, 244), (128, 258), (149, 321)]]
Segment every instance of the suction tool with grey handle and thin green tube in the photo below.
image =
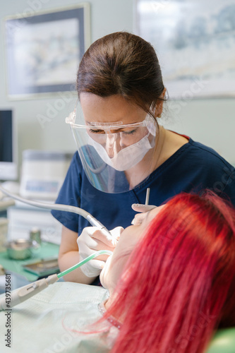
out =
[(47, 278), (42, 278), (42, 280), (37, 280), (35, 282), (30, 283), (30, 285), (26, 285), (24, 287), (20, 287), (18, 289), (13, 290), (13, 292), (6, 291), (6, 294), (0, 298), (0, 311), (2, 310), (11, 310), (13, 306), (22, 303), (23, 301), (33, 297), (35, 294), (42, 292), (43, 289), (47, 288), (49, 285), (53, 285), (57, 282), (61, 277), (71, 273), (76, 268), (84, 265), (88, 261), (92, 260), (92, 258), (96, 258), (102, 254), (112, 255), (112, 251), (109, 250), (100, 250), (92, 253), (92, 255), (85, 258), (80, 263), (73, 265), (68, 270), (64, 270), (59, 274), (50, 275)]

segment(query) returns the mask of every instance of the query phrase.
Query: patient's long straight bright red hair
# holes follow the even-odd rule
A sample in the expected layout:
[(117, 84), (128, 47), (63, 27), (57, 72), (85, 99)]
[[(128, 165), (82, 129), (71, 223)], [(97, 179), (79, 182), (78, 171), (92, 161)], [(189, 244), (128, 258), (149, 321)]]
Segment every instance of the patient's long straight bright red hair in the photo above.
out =
[(182, 193), (131, 253), (107, 316), (123, 318), (112, 353), (205, 352), (235, 325), (235, 212), (218, 196)]

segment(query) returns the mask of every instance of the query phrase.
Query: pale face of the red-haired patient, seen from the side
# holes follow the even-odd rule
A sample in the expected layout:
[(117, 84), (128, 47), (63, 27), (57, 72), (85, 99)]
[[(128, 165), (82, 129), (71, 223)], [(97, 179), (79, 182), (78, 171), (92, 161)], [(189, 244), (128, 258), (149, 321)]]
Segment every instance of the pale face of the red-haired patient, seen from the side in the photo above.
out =
[(114, 253), (112, 256), (109, 256), (100, 274), (100, 281), (105, 288), (109, 289), (110, 294), (112, 294), (112, 291), (116, 287), (116, 283), (121, 277), (123, 268), (135, 244), (137, 244), (138, 240), (145, 234), (147, 226), (162, 207), (164, 206), (159, 206), (149, 212), (135, 215), (134, 225), (127, 227), (121, 233)]

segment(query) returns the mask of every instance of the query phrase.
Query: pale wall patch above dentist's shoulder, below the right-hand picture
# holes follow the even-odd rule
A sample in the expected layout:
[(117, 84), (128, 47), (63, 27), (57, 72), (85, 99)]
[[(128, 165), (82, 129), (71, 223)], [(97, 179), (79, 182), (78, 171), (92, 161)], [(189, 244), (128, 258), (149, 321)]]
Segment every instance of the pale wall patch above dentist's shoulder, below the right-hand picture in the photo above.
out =
[[(182, 107), (181, 103), (185, 105)], [(214, 148), (228, 162), (235, 165), (234, 98), (189, 102), (184, 100), (171, 104), (175, 109), (169, 109), (170, 112), (167, 112), (169, 124), (166, 124), (166, 127)]]

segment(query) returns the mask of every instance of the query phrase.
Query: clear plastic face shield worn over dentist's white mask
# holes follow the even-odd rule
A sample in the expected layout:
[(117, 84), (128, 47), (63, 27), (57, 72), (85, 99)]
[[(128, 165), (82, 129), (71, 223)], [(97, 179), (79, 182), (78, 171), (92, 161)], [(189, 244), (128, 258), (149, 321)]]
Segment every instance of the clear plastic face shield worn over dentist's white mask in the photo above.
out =
[(69, 114), (66, 123), (92, 186), (106, 193), (123, 193), (145, 181), (151, 172), (157, 122), (149, 115), (126, 125), (85, 121), (79, 108)]

